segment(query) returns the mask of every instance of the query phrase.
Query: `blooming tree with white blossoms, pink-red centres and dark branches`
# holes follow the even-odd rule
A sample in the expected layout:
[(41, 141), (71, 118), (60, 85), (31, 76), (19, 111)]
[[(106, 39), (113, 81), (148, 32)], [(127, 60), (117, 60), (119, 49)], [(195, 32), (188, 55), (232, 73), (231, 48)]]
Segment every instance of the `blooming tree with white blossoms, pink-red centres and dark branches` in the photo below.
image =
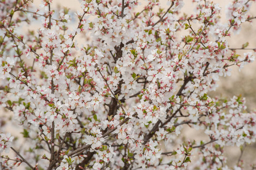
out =
[[(192, 15), (181, 14), (182, 0), (160, 2), (138, 11), (136, 0), (80, 0), (75, 18), (52, 0), (0, 2), (0, 106), (29, 144), (15, 147), (20, 139), (1, 131), (2, 169), (242, 167), (226, 165), (224, 147), (255, 142), (256, 115), (241, 96), (208, 92), (254, 60), (226, 39), (255, 19), (252, 2), (230, 1), (226, 23), (211, 1), (194, 0)], [(20, 33), (32, 23), (40, 28)], [(208, 140), (186, 140), (186, 126)]]

